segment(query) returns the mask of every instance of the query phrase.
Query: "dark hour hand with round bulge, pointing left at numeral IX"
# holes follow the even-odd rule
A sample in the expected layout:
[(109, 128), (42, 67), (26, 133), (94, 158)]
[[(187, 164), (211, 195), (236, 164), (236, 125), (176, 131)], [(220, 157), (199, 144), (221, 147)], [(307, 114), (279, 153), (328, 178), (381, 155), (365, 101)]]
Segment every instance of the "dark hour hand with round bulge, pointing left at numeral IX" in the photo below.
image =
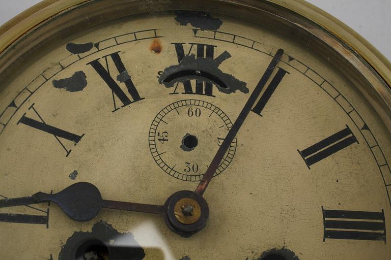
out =
[(0, 200), (0, 208), (44, 202), (57, 204), (68, 217), (75, 221), (91, 220), (98, 215), (101, 208), (164, 213), (163, 206), (103, 200), (99, 189), (88, 182), (75, 183), (55, 194), (37, 192), (31, 197)]

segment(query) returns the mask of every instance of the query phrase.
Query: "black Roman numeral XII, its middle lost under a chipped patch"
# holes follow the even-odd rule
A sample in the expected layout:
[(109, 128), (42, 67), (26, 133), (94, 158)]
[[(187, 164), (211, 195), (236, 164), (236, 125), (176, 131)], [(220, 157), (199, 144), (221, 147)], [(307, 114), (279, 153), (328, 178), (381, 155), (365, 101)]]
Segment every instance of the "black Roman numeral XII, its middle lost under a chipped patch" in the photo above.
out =
[[(173, 43), (175, 46), (175, 51), (177, 53), (178, 62), (181, 62), (182, 59), (185, 57), (185, 43)], [(194, 47), (195, 46), (195, 47)], [(204, 58), (211, 58), (214, 59), (214, 48), (217, 47), (215, 45), (207, 45), (207, 44), (200, 44), (200, 43), (190, 43), (190, 48), (188, 51), (188, 55), (192, 52), (194, 48), (196, 48), (196, 57), (204, 57)], [(179, 94), (177, 92), (178, 86), (180, 83), (178, 83), (175, 88), (174, 92), (171, 94)], [(200, 82), (198, 80), (195, 81), (195, 91), (193, 91), (193, 86), (191, 85), (190, 80), (186, 80), (183, 83), (184, 92), (182, 94), (198, 94), (198, 95), (208, 95), (208, 96), (214, 96), (213, 95), (213, 84), (209, 82)]]

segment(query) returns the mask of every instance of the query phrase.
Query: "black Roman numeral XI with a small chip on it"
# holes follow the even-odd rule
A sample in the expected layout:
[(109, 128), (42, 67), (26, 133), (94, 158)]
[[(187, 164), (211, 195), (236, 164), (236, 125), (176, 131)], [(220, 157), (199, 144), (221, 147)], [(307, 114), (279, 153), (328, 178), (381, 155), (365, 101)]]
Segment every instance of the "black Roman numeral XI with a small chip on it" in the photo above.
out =
[[(117, 80), (119, 82), (125, 83), (125, 86), (128, 90), (128, 93), (130, 94), (133, 101), (130, 100), (130, 98), (121, 89), (121, 87), (118, 85), (118, 83), (113, 79), (113, 77), (111, 77), (109, 65), (108, 65), (109, 64), (108, 57), (110, 57), (111, 60), (113, 60), (115, 66), (117, 68), (117, 71), (119, 72)], [(122, 104), (123, 104), (122, 107), (128, 106), (134, 102), (143, 100), (144, 98), (141, 98), (140, 95), (138, 94), (138, 91), (137, 91), (136, 87), (134, 86), (132, 79), (130, 78), (127, 70), (125, 69), (124, 63), (121, 60), (119, 52), (111, 53), (109, 55), (103, 56), (103, 58), (105, 61), (106, 68), (104, 68), (103, 65), (100, 63), (100, 61), (99, 61), (100, 59), (93, 60), (88, 64), (90, 64), (95, 69), (95, 71), (99, 74), (99, 76), (104, 80), (104, 82), (107, 84), (107, 86), (111, 89), (111, 91), (113, 93), (113, 102), (114, 102), (114, 111), (113, 112), (120, 109), (119, 107), (117, 107), (115, 95), (122, 102)]]

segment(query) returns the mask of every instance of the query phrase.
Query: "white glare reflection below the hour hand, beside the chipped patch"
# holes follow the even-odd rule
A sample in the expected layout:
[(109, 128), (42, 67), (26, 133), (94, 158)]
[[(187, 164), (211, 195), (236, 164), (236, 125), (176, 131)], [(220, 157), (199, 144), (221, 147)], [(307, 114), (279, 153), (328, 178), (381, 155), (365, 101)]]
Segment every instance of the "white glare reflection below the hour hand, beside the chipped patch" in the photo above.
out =
[(156, 223), (152, 220), (144, 221), (139, 224), (135, 229), (129, 231), (134, 236), (135, 244), (129, 243), (126, 238), (119, 236), (114, 240), (116, 246), (123, 247), (143, 247), (146, 248), (159, 248), (163, 254), (164, 259), (175, 259), (174, 254), (167, 245), (166, 240), (162, 237), (159, 230), (156, 228)]

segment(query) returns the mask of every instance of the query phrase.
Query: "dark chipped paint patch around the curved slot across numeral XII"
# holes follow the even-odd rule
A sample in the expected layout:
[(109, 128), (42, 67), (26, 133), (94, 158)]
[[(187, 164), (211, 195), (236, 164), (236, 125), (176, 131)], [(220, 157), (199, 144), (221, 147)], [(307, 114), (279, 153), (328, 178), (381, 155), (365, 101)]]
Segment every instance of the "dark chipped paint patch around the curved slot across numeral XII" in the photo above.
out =
[(222, 93), (235, 93), (239, 90), (248, 93), (247, 84), (236, 79), (231, 74), (222, 72), (218, 67), (231, 54), (225, 51), (215, 59), (198, 57), (194, 54), (186, 55), (178, 65), (166, 68), (159, 77), (159, 83), (165, 87), (174, 87), (178, 82), (184, 83), (186, 80), (197, 79), (199, 82), (212, 83)]

